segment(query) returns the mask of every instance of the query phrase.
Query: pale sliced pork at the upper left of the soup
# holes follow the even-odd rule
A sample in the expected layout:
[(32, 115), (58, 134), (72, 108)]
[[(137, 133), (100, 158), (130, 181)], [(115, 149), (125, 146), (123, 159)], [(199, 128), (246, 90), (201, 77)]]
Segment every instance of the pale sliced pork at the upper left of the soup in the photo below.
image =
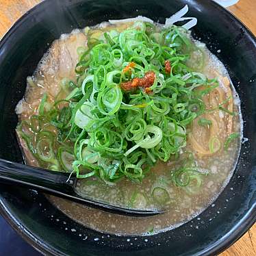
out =
[[(86, 46), (86, 36), (75, 31), (55, 40), (49, 51), (42, 57), (33, 77), (28, 77), (25, 97), (18, 103), (16, 113), (22, 120), (36, 112), (44, 92), (53, 101), (60, 92), (60, 82), (64, 78), (75, 81), (75, 66), (78, 61), (77, 48)], [(38, 90), (39, 88), (39, 90)]]

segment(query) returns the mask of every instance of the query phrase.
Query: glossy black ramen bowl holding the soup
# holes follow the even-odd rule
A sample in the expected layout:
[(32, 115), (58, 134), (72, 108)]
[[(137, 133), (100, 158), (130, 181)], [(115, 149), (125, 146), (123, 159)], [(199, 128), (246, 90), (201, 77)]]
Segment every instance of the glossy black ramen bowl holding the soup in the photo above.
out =
[[(44, 194), (0, 186), (0, 211), (23, 238), (46, 255), (212, 255), (224, 251), (255, 222), (256, 214), (256, 39), (213, 1), (46, 0), (18, 20), (0, 42), (0, 157), (23, 162), (15, 135), (14, 108), (53, 40), (75, 28), (108, 19), (165, 18), (189, 5), (198, 18), (195, 38), (225, 64), (240, 95), (244, 143), (231, 181), (214, 205), (177, 229), (148, 237), (99, 233), (51, 205)], [(97, 239), (95, 239), (97, 238)]]

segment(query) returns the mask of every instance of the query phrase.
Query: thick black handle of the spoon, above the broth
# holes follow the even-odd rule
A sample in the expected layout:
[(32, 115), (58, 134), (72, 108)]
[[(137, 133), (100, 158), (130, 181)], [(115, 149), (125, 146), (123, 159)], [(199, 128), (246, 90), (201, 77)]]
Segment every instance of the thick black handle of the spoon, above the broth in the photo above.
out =
[(16, 184), (47, 191), (71, 192), (75, 179), (68, 179), (69, 176), (70, 173), (54, 172), (0, 159), (0, 180)]

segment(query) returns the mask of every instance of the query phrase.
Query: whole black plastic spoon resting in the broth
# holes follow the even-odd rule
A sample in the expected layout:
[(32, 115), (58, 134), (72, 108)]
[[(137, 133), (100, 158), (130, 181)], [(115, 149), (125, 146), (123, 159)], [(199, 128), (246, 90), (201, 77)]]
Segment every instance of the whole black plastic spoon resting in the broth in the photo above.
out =
[(158, 210), (129, 209), (86, 199), (75, 192), (77, 178), (75, 176), (70, 177), (70, 173), (54, 172), (27, 166), (25, 164), (17, 164), (4, 159), (0, 159), (0, 182), (1, 181), (25, 185), (28, 188), (36, 188), (42, 192), (71, 199), (72, 201), (84, 203), (89, 207), (102, 209), (114, 214), (142, 217), (163, 213)]

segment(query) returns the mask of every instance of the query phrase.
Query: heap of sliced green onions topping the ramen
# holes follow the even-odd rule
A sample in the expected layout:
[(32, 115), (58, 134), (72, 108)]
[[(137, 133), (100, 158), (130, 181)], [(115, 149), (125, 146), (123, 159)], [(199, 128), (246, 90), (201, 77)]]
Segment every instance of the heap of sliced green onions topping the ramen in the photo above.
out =
[[(45, 94), (38, 114), (21, 123), (21, 130), (27, 125), (36, 138), (21, 136), (38, 162), (52, 170), (106, 182), (141, 181), (158, 160), (179, 154), (186, 127), (205, 111), (203, 95), (218, 81), (196, 72), (203, 54), (191, 65), (190, 56), (201, 49), (183, 27), (136, 22), (121, 33), (113, 29), (96, 39), (89, 31), (88, 36), (88, 47), (78, 49), (77, 81), (63, 81), (66, 98), (52, 105)], [(131, 62), (135, 66), (124, 72)], [(150, 92), (122, 89), (122, 83), (150, 71), (155, 73)], [(195, 90), (199, 86), (203, 90)]]

